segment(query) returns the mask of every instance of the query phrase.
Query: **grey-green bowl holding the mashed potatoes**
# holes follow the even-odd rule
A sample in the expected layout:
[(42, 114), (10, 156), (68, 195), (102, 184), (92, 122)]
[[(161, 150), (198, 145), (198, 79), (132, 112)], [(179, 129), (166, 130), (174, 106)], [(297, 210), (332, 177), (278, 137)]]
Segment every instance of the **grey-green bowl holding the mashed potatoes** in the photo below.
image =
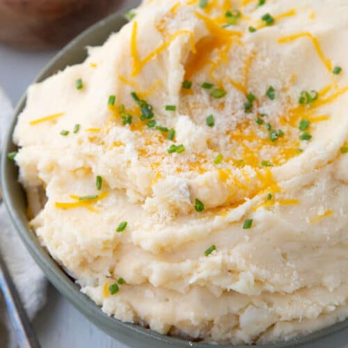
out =
[[(89, 29), (77, 36), (70, 44), (64, 47), (44, 70), (38, 75), (34, 82), (42, 81), (51, 76), (58, 70), (63, 70), (68, 65), (81, 63), (86, 58), (86, 46), (102, 45), (102, 43), (115, 31), (120, 30), (127, 21), (120, 13), (115, 13), (106, 19), (91, 26)], [(199, 342), (189, 342), (166, 335), (161, 335), (150, 329), (144, 329), (135, 324), (120, 322), (114, 317), (108, 317), (102, 312), (100, 306), (97, 306), (85, 294), (80, 292), (79, 286), (74, 283), (61, 267), (52, 259), (38, 242), (35, 234), (28, 227), (28, 218), (26, 216), (26, 198), (24, 191), (17, 181), (17, 167), (6, 159), (6, 153), (15, 150), (12, 141), (13, 129), (17, 122), (17, 116), (22, 112), (26, 104), (26, 95), (17, 105), (15, 116), (8, 129), (6, 141), (3, 146), (3, 155), (1, 156), (1, 186), (3, 199), (13, 222), (13, 227), (19, 233), (22, 242), (26, 245), (29, 253), (40, 266), (42, 271), (56, 289), (65, 296), (73, 306), (75, 306), (90, 322), (93, 322), (100, 329), (109, 335), (124, 342), (130, 347), (142, 348), (162, 348), (162, 347), (193, 347), (193, 348), (212, 348), (212, 347), (235, 347), (231, 345), (206, 345)], [(1, 231), (0, 231), (1, 232)], [(293, 347), (294, 345), (306, 345), (306, 343), (322, 338), (329, 333), (334, 333), (348, 326), (348, 321), (340, 322), (327, 329), (307, 335), (298, 340), (282, 342), (274, 345), (253, 346), (253, 347)], [(249, 347), (249, 346), (239, 346)]]

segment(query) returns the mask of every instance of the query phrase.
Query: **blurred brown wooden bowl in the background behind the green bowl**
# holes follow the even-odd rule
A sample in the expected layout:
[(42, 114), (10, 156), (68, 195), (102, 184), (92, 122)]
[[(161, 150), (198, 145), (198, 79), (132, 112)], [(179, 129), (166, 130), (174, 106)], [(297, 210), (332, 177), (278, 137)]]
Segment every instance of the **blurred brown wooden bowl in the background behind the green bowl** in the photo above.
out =
[(61, 47), (123, 0), (0, 0), (0, 42), (45, 49)]

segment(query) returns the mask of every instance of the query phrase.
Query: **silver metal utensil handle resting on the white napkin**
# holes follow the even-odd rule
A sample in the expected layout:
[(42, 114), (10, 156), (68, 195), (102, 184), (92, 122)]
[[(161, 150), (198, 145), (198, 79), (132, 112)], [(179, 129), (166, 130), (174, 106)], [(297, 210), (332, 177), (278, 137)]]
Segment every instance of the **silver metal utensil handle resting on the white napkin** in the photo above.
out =
[(5, 299), (8, 317), (15, 330), (17, 343), (20, 348), (40, 348), (35, 333), (31, 328), (26, 312), (19, 299), (15, 285), (10, 277), (5, 262), (0, 255), (0, 289)]

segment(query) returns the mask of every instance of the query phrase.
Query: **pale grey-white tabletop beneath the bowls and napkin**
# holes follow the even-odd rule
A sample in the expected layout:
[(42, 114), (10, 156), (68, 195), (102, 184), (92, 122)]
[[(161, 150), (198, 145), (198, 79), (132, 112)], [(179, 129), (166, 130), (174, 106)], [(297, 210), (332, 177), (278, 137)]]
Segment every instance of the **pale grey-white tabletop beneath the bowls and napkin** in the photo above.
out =
[[(136, 3), (138, 0), (127, 0), (121, 8), (132, 8)], [(0, 86), (5, 89), (14, 105), (54, 54), (56, 51), (26, 52), (0, 45)], [(61, 294), (58, 294), (52, 285), (49, 285), (47, 304), (34, 320), (33, 326), (42, 348), (127, 347), (88, 322)], [(348, 348), (347, 342), (346, 330), (302, 347)]]

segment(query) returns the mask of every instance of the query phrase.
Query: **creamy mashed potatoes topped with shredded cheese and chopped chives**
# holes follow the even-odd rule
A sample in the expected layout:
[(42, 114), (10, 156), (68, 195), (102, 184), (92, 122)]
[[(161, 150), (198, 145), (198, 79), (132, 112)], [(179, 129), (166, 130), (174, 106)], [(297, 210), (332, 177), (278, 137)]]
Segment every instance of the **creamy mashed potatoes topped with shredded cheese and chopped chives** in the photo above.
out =
[(160, 333), (266, 343), (345, 319), (347, 1), (134, 14), (29, 88), (14, 139), (42, 245)]

